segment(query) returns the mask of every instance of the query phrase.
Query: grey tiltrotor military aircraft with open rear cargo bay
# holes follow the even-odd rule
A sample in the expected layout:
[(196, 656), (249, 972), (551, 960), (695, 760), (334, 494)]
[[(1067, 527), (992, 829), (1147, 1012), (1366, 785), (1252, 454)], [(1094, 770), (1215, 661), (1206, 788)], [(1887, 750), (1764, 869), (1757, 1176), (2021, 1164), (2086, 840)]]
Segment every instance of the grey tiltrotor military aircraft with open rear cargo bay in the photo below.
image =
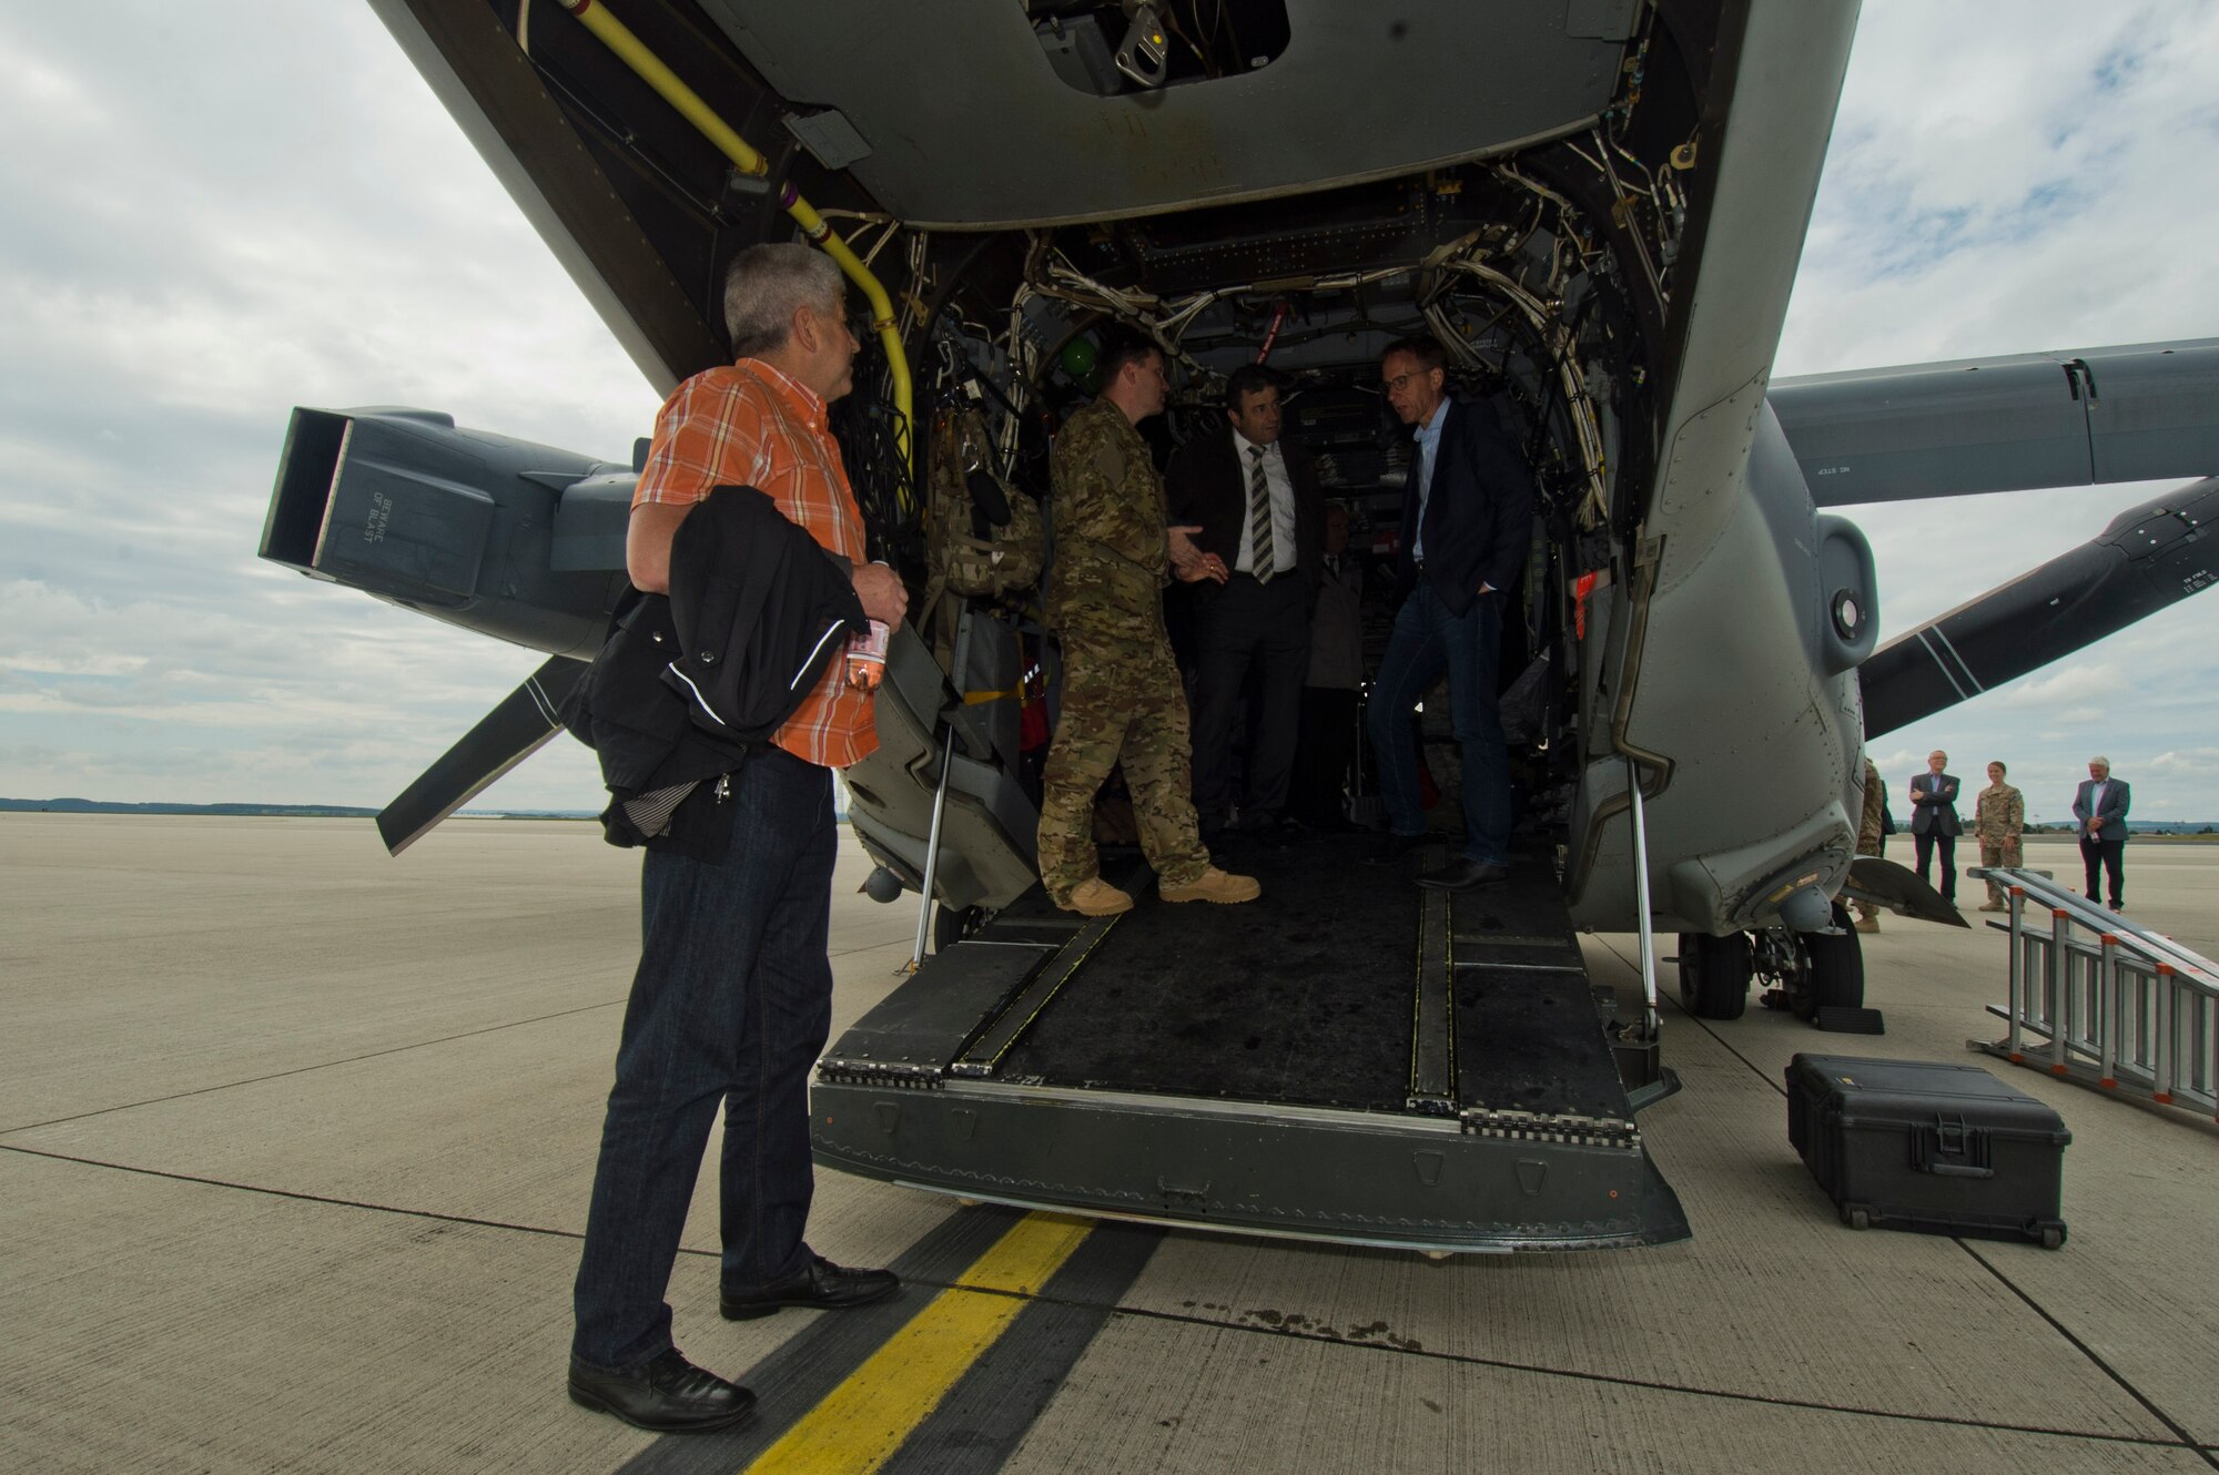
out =
[[(1864, 739), (2215, 577), (2203, 479), (1875, 652), (1871, 548), (1826, 508), (2203, 477), (2219, 342), (1775, 382), (1855, 0), (373, 4), (657, 390), (730, 359), (748, 244), (819, 244), (868, 308), (834, 426), (916, 599), (848, 803), (874, 883), (941, 920), (819, 1065), (845, 1171), (1427, 1251), (1682, 1238), (1635, 1122), (1673, 1085), (1651, 938), (1698, 1014), (1753, 967), (1804, 1014), (1862, 1003), (1844, 894), (1962, 925), (1853, 858)], [(1174, 368), (1163, 441), (1267, 357), (1378, 550), (1409, 472), (1382, 346), (1431, 335), (1516, 404), (1507, 887), (1420, 894), (1318, 834), (1238, 856), (1252, 907), (1154, 903), (1116, 852), (1134, 912), (1045, 905), (1054, 641), (945, 550), (1050, 490), (1112, 324)], [(393, 850), (557, 730), (635, 468), (295, 410), (264, 557), (550, 657), (386, 810)], [(1578, 929), (1638, 934), (1646, 996), (1598, 998)]]

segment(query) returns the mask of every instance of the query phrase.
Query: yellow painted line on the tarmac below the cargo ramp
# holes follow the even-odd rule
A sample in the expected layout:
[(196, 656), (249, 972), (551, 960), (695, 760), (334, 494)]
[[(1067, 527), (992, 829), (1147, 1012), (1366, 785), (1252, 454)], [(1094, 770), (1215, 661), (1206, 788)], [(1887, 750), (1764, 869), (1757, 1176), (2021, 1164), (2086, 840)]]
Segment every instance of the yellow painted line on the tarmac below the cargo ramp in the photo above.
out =
[(877, 1471), (1092, 1231), (1092, 1220), (1027, 1213), (954, 1286), (925, 1302), (908, 1326), (801, 1415), (746, 1475)]

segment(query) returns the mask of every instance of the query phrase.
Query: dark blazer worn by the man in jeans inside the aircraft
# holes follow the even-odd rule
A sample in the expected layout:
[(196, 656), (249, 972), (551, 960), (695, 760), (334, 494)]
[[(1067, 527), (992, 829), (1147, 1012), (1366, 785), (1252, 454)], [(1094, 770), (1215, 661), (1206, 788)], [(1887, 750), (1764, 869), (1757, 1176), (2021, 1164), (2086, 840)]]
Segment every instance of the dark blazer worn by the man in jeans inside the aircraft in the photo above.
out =
[[(1440, 426), (1433, 490), (1425, 501), (1425, 579), (1451, 614), (1471, 608), (1482, 583), (1511, 590), (1533, 543), (1533, 470), (1496, 399), (1451, 399)], [(1402, 488), (1402, 548), (1396, 581), (1411, 588), (1418, 526), (1418, 459)]]

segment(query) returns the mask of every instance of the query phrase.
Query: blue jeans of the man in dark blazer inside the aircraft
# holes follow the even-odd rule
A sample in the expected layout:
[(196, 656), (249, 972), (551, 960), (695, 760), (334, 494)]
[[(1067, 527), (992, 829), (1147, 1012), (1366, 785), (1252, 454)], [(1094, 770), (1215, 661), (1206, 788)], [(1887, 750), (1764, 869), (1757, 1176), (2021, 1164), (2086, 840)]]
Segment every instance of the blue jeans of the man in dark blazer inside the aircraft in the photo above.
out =
[(1511, 858), (1511, 770), (1502, 741), (1496, 670), (1502, 663), (1502, 594), (1480, 594), (1451, 614), (1425, 579), (1396, 610), (1387, 654), (1371, 683), (1365, 725), (1380, 765), (1387, 827), (1425, 834), (1418, 807), (1418, 741), (1411, 710), (1449, 672), (1449, 716), (1465, 754), (1465, 856), (1482, 865)]

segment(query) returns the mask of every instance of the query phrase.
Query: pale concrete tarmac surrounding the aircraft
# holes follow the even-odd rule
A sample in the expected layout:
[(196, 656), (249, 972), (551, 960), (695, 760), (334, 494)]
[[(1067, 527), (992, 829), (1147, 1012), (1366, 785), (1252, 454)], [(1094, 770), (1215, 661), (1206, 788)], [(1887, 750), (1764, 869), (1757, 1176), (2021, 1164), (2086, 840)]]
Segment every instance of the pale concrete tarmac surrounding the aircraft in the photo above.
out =
[[(2070, 843), (2028, 863), (2077, 874)], [(717, 1318), (706, 1176), (677, 1337), (763, 1391), (761, 1437), (659, 1442), (561, 1393), (637, 865), (581, 823), (450, 821), (395, 861), (366, 821), (0, 814), (0, 1471), (739, 1471), (848, 1386), (868, 1313)], [(914, 932), (865, 869), (848, 850), (832, 898), (834, 1036)], [(2219, 847), (2135, 843), (2126, 878), (2219, 954)], [(1638, 989), (1633, 938), (1587, 952)], [(1014, 1293), (1045, 1340), (981, 1353), (905, 1442), (783, 1468), (2219, 1468), (2219, 1127), (1968, 1056), (1995, 932), (1891, 916), (1864, 952), (1886, 1038), (1666, 1003), (1686, 1089), (1642, 1125), (1686, 1244), (1096, 1231), (1094, 1280)], [(2068, 1244), (1844, 1229), (1786, 1140), (1800, 1049), (2053, 1102)], [(928, 1267), (890, 1335), (1012, 1220), (819, 1173), (810, 1240)]]

